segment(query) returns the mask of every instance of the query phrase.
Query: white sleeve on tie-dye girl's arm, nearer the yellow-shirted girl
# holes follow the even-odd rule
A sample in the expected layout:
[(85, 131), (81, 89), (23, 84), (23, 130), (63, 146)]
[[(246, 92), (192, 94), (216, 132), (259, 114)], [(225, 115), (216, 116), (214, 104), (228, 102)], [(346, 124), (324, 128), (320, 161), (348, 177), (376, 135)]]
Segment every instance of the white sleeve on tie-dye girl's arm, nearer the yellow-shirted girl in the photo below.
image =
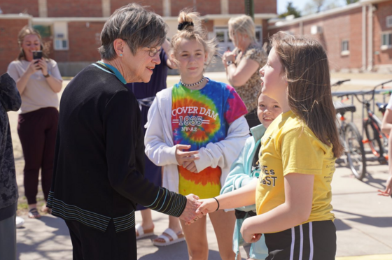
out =
[(199, 154), (196, 154), (200, 159), (195, 161), (197, 172), (200, 173), (207, 167), (230, 167), (237, 159), (248, 137), (248, 122), (244, 116), (241, 116), (230, 124), (228, 136), (224, 140), (209, 143), (206, 147), (200, 148)]

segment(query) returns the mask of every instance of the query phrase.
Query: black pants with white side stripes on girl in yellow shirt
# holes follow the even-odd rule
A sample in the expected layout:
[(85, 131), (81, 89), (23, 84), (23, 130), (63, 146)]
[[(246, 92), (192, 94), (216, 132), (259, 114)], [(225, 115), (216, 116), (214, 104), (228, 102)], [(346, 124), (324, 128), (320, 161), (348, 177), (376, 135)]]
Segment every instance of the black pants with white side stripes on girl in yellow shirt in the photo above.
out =
[(336, 228), (332, 221), (309, 222), (265, 234), (266, 260), (335, 260)]

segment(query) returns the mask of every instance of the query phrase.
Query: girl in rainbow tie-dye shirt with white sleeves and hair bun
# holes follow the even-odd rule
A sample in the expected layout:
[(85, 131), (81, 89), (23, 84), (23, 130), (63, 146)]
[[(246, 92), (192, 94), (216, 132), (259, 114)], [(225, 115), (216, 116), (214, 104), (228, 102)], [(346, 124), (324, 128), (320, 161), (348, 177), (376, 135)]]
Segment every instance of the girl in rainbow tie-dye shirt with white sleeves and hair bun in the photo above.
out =
[[(235, 89), (204, 78), (205, 64), (216, 52), (215, 41), (205, 41), (197, 13), (183, 11), (179, 32), (172, 38), (172, 61), (181, 80), (157, 94), (148, 113), (146, 154), (164, 167), (163, 186), (200, 198), (218, 196), (232, 162), (248, 137), (247, 110)], [(222, 259), (232, 252), (234, 211), (209, 214)], [(183, 226), (188, 252), (208, 259), (206, 218)]]

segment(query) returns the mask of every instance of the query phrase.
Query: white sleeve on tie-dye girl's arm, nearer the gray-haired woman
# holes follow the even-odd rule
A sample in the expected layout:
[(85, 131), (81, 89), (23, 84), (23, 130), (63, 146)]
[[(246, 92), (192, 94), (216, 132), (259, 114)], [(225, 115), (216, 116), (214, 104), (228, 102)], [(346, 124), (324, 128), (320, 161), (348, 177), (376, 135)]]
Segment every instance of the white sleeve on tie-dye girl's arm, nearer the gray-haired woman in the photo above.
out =
[(147, 157), (157, 166), (176, 164), (176, 146), (169, 146), (165, 142), (165, 122), (158, 109), (158, 99), (154, 99), (150, 110), (148, 110), (146, 136), (144, 145)]

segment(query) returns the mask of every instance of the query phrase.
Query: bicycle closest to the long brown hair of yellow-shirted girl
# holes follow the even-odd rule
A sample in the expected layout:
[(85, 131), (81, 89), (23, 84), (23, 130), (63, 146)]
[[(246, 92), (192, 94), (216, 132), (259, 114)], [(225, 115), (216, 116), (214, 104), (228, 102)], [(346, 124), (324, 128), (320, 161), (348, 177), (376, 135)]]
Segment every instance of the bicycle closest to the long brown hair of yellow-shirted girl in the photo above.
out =
[[(331, 87), (342, 85), (343, 82), (349, 80), (339, 80)], [(342, 95), (345, 96), (345, 95)], [(337, 118), (340, 121), (338, 124), (339, 137), (344, 146), (344, 154), (346, 154), (346, 164), (349, 164), (351, 172), (358, 180), (362, 180), (366, 173), (366, 155), (363, 147), (363, 138), (360, 135), (358, 128), (353, 122), (346, 123), (346, 112), (356, 112), (356, 106), (353, 104), (346, 105), (342, 102), (334, 101), (334, 106)]]

